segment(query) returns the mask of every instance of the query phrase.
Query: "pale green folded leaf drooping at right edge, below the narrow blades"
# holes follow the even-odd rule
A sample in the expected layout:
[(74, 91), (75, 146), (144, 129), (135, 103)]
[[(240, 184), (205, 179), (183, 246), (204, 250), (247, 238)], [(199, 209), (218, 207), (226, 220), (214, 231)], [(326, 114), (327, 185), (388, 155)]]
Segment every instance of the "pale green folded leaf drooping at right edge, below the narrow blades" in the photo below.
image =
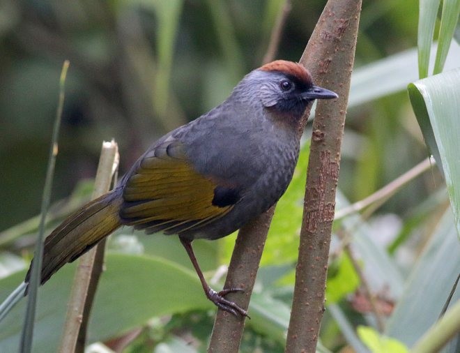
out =
[(460, 234), (460, 68), (419, 80), (410, 84), (408, 89), (413, 110), (432, 153), (434, 148), (438, 148), (436, 162), (442, 166)]

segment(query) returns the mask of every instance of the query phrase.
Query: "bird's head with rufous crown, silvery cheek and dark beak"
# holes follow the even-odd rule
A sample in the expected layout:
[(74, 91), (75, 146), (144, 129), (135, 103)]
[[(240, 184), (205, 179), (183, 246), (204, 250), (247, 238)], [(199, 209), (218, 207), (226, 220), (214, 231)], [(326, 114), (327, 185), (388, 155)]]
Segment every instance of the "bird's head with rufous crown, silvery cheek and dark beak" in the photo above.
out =
[[(244, 82), (244, 83), (243, 83)], [(316, 87), (306, 68), (292, 61), (277, 60), (248, 74), (244, 86), (262, 103), (263, 107), (279, 114), (300, 118), (308, 103), (315, 99), (337, 98), (337, 94)]]

